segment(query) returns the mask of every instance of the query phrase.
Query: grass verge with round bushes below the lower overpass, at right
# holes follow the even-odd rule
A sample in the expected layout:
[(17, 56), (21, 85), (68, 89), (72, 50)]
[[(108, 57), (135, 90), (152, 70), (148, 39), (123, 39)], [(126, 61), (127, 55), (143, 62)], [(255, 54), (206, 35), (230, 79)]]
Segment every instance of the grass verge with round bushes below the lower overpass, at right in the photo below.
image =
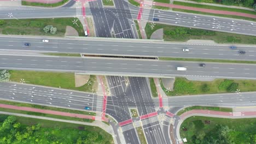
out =
[(168, 96), (228, 93), (235, 92), (236, 89), (240, 89), (240, 92), (256, 91), (256, 80), (216, 79), (214, 81), (189, 81), (184, 77), (176, 77), (173, 91), (168, 91), (162, 84), (161, 79), (160, 85)]

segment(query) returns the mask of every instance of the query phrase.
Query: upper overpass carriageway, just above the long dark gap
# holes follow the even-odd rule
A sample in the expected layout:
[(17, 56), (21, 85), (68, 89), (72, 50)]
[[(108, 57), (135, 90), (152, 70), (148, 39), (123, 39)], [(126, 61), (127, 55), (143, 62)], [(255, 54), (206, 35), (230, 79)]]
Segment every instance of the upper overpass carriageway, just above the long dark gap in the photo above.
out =
[[(101, 55), (121, 56), (152, 56), (152, 57), (185, 57), (185, 58), (212, 58), (212, 59), (238, 59), (256, 61), (255, 45), (237, 45), (236, 50), (230, 49), (232, 45), (226, 44), (190, 44), (168, 43), (161, 41), (138, 41), (123, 39), (84, 39), (50, 38), (49, 43), (43, 43), (43, 38), (33, 37), (7, 37), (0, 36), (2, 50), (25, 51), (53, 51), (67, 53), (91, 53)], [(25, 47), (24, 43), (31, 43)], [(189, 49), (183, 52), (182, 49)], [(240, 55), (239, 50), (246, 51)]]

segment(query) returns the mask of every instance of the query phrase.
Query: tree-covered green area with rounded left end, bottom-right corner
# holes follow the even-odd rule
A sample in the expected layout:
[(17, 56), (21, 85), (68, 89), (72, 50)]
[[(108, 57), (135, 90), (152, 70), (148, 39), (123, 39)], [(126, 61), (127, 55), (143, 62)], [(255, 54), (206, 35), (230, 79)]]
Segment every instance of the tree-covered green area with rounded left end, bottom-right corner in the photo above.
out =
[(189, 117), (181, 125), (187, 143), (255, 143), (256, 118)]

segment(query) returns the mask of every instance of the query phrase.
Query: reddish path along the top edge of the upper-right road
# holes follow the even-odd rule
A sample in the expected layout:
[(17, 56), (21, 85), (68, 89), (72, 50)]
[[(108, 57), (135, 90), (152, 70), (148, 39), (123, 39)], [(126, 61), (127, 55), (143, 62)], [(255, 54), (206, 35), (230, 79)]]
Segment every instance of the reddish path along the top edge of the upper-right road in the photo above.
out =
[[(135, 1), (138, 2), (138, 3), (141, 3), (141, 1), (139, 1), (139, 0), (135, 0)], [(175, 5), (175, 4), (167, 4), (167, 3), (159, 3), (159, 2), (155, 2), (155, 5), (161, 6), (161, 7), (176, 8), (176, 9), (186, 9), (186, 10), (201, 11), (203, 13), (223, 14), (223, 15), (236, 15), (236, 16), (250, 17), (250, 18), (256, 19), (256, 15), (246, 14), (246, 13), (238, 13), (238, 12), (234, 12), (234, 11), (194, 8), (194, 7), (187, 7), (187, 6), (183, 6), (183, 5)]]

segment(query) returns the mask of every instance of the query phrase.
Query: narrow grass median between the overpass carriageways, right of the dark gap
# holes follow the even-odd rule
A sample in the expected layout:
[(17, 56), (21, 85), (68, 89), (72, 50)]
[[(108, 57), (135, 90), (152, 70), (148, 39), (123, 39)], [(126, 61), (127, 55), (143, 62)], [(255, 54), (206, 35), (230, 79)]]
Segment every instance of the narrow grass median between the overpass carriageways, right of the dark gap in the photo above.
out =
[(216, 62), (216, 63), (247, 63), (256, 64), (256, 61), (240, 61), (229, 59), (202, 59), (202, 58), (179, 58), (179, 57), (158, 57), (162, 61), (191, 61), (191, 62)]

